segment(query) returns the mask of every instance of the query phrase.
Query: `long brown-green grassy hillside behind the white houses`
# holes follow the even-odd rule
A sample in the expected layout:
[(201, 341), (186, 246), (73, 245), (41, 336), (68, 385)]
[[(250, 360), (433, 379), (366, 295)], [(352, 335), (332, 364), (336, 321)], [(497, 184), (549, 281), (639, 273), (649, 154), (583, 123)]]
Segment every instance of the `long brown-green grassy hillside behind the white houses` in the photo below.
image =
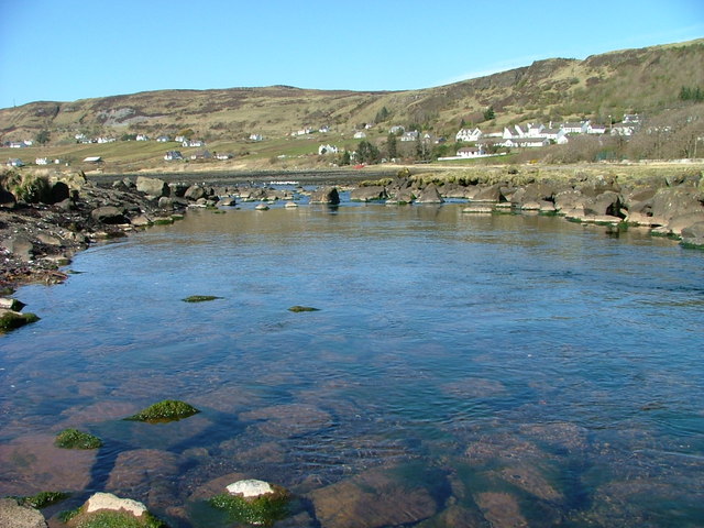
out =
[[(384, 138), (393, 124), (416, 125), (451, 138), (462, 122), (483, 130), (527, 121), (590, 118), (618, 121), (624, 113), (657, 114), (681, 103), (682, 87), (704, 88), (704, 38), (681, 44), (626, 50), (584, 61), (550, 58), (530, 66), (451, 85), (408, 91), (311, 90), (286, 86), (227, 90), (163, 90), (73, 102), (32, 102), (0, 109), (0, 142), (51, 133), (43, 155), (78, 160), (102, 155), (123, 164), (157, 163), (175, 144), (130, 142), (129, 146), (76, 145), (87, 136), (146, 133), (152, 138), (191, 130), (208, 148), (250, 153), (271, 160), (295, 157), (336, 142), (353, 145), (352, 134), (375, 123), (370, 139)], [(484, 120), (492, 107), (495, 119)], [(386, 118), (377, 122), (384, 109)], [(295, 140), (290, 133), (329, 125), (328, 134)], [(267, 141), (250, 143), (250, 134)], [(32, 148), (34, 151), (35, 148)], [(0, 156), (28, 157), (1, 150)], [(37, 148), (38, 152), (38, 148)], [(188, 154), (188, 152), (184, 152)], [(34, 155), (34, 154), (31, 154)], [(36, 154), (40, 155), (40, 154)]]

